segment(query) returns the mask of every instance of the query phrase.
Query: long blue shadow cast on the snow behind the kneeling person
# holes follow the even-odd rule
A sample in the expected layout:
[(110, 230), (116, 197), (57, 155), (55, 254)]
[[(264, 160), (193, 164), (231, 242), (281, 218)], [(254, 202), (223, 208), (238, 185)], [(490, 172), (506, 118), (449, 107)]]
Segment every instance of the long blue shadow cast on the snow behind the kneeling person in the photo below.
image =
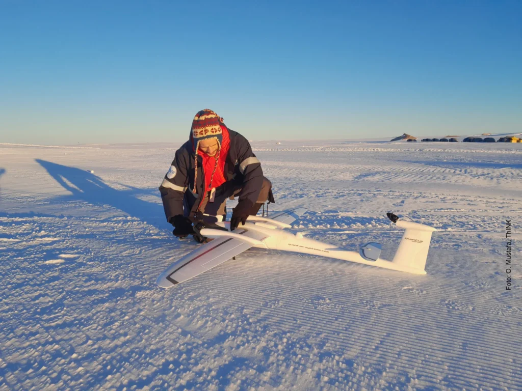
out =
[[(130, 216), (161, 227), (163, 207), (161, 204), (147, 202), (134, 197), (137, 191), (116, 190), (106, 185), (103, 180), (83, 169), (67, 167), (45, 160), (35, 159), (47, 170), (60, 185), (73, 193), (76, 200), (87, 201), (94, 205), (111, 205)], [(136, 189), (138, 190), (138, 189)]]

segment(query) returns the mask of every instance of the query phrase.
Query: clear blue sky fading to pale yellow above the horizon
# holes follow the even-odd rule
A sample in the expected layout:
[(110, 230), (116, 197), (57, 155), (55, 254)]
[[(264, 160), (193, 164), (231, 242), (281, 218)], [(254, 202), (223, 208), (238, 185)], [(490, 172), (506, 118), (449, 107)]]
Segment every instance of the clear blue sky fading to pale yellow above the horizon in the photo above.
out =
[(522, 2), (0, 0), (0, 142), (522, 131)]

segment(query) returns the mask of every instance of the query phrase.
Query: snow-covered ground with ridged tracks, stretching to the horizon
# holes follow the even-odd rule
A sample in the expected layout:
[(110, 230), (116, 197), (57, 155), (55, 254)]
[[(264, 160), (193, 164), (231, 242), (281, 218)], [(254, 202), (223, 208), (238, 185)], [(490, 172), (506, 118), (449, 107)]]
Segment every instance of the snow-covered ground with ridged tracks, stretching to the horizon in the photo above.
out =
[(387, 211), (433, 225), (428, 274), (253, 249), (163, 290), (178, 145), (0, 144), (0, 389), (522, 389), (522, 144), (253, 142), (270, 212), (388, 253)]

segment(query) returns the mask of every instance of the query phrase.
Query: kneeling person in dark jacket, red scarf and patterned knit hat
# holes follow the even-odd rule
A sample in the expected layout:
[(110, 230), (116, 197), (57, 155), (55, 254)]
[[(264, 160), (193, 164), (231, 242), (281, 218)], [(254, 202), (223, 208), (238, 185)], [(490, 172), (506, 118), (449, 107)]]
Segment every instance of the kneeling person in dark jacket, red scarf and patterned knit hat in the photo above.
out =
[(239, 197), (231, 230), (256, 215), (267, 200), (274, 202), (270, 181), (250, 143), (209, 109), (194, 117), (189, 140), (176, 151), (159, 190), (177, 237), (194, 234), (193, 222), (224, 221), (230, 197)]

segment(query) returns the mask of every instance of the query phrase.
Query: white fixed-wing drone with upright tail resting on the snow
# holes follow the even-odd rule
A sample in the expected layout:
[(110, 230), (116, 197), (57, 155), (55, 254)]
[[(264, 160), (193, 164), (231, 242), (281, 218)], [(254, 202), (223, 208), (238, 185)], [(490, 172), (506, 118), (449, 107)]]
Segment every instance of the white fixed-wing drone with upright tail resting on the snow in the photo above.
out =
[(248, 216), (246, 224), (240, 225), (233, 232), (229, 231), (230, 223), (217, 223), (216, 228), (203, 228), (199, 233), (214, 240), (198, 247), (188, 255), (170, 265), (158, 277), (157, 284), (162, 288), (171, 288), (189, 278), (210, 270), (251, 247), (262, 249), (293, 251), (305, 254), (327, 256), (344, 261), (413, 274), (426, 274), (424, 266), (430, 249), (431, 234), (435, 228), (399, 220), (388, 213), (388, 218), (399, 228), (405, 228), (399, 248), (392, 261), (379, 258), (381, 245), (368, 243), (359, 252), (347, 251), (340, 247), (303, 237), (303, 234), (292, 234), (285, 228), (306, 212), (298, 207), (268, 217)]

